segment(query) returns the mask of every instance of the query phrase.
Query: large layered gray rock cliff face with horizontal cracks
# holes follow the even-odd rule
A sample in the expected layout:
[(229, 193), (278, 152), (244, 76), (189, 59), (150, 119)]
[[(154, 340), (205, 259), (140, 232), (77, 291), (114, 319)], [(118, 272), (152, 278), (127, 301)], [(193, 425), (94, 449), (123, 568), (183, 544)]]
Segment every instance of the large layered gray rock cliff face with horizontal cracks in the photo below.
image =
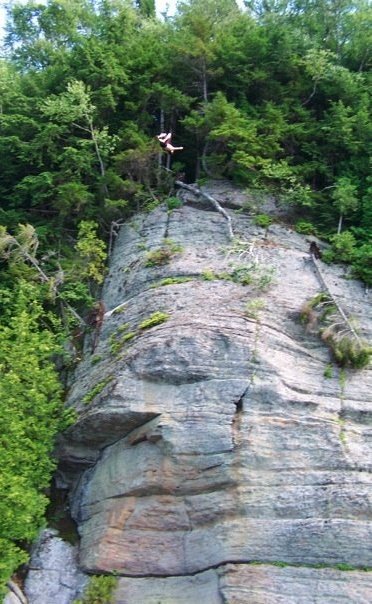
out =
[[(371, 601), (371, 573), (331, 568), (372, 567), (371, 370), (324, 376), (308, 243), (230, 212), (234, 246), (195, 203), (120, 231), (60, 444), (82, 568), (117, 572), (118, 603)], [(361, 284), (322, 271), (370, 338)]]

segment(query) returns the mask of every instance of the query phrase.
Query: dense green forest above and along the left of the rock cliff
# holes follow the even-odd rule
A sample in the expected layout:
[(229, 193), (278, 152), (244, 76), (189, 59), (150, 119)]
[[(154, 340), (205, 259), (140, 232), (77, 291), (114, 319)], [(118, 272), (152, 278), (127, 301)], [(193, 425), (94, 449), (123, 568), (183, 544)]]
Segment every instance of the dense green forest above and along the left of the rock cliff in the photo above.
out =
[[(110, 233), (187, 182), (291, 205), (372, 283), (368, 0), (12, 4), (0, 60), (0, 580), (43, 522), (73, 364)], [(171, 131), (184, 150), (160, 153)], [(169, 170), (171, 168), (172, 171)], [(68, 342), (70, 342), (68, 344)], [(74, 342), (71, 344), (71, 342)], [(63, 373), (63, 371), (62, 371)]]

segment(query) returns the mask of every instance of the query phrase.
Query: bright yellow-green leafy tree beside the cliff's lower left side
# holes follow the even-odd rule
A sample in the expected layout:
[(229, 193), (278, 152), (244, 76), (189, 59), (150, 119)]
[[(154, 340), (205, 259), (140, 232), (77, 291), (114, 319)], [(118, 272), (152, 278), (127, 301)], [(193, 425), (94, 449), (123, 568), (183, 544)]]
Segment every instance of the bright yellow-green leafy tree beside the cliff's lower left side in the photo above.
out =
[[(0, 317), (0, 583), (27, 559), (20, 544), (43, 523), (43, 494), (54, 469), (54, 438), (66, 423), (61, 386), (51, 361), (58, 339), (45, 327), (41, 289), (20, 281)], [(43, 326), (44, 323), (44, 326)]]

